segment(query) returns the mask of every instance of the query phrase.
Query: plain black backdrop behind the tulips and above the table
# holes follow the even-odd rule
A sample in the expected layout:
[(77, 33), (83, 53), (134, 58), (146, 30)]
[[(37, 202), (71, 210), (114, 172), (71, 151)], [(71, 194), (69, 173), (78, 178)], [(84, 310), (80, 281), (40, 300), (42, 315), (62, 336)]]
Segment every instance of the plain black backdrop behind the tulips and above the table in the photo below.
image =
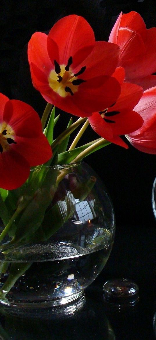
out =
[[(92, 26), (96, 40), (108, 40), (120, 11), (137, 11), (147, 28), (156, 27), (155, 0), (45, 0), (1, 1), (0, 26), (0, 91), (10, 99), (23, 100), (32, 105), (41, 116), (46, 102), (31, 83), (27, 62), (27, 43), (36, 31), (47, 32), (53, 24), (69, 14), (82, 15)], [(62, 113), (61, 125), (70, 115)], [(87, 136), (96, 138), (89, 128)], [(141, 153), (129, 146), (116, 145), (92, 154), (86, 159), (104, 180), (113, 201), (116, 221), (139, 222), (149, 228), (154, 217), (151, 207), (152, 184), (156, 175), (156, 156)]]

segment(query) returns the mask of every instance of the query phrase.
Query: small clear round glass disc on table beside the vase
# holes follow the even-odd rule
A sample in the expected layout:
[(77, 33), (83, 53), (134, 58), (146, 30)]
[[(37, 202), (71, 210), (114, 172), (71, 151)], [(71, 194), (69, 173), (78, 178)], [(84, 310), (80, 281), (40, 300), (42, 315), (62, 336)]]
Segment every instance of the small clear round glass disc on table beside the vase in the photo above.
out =
[(111, 279), (103, 286), (104, 301), (116, 307), (134, 306), (139, 299), (138, 286), (126, 278)]

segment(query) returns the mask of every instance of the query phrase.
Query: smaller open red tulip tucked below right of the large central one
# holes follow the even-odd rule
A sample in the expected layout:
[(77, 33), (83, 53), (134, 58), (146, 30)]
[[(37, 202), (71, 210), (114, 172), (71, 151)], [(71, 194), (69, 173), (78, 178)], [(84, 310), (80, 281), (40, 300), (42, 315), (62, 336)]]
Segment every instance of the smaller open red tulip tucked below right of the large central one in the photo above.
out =
[(119, 136), (133, 132), (142, 126), (143, 119), (137, 112), (133, 111), (133, 108), (141, 98), (143, 90), (138, 85), (123, 83), (125, 72), (122, 67), (118, 67), (113, 76), (121, 84), (119, 98), (116, 103), (103, 112), (93, 113), (92, 116), (88, 117), (88, 120), (98, 135), (128, 148)]

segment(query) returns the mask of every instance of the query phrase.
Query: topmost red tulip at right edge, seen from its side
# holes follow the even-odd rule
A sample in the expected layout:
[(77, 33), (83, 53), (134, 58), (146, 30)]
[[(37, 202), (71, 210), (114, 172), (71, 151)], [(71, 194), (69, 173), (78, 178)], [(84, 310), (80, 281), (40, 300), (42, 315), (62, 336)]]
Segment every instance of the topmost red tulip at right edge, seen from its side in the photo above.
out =
[(156, 28), (146, 29), (136, 12), (120, 13), (109, 37), (121, 49), (118, 66), (125, 68), (126, 82), (144, 90), (156, 85)]

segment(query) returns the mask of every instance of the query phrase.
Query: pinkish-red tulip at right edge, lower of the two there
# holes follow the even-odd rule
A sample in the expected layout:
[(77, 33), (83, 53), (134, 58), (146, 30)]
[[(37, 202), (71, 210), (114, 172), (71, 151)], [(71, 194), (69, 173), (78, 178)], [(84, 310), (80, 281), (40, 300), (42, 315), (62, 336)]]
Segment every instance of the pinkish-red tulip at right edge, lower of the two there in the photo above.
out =
[(126, 137), (136, 149), (156, 154), (156, 87), (144, 91), (134, 109), (144, 122), (141, 128)]

